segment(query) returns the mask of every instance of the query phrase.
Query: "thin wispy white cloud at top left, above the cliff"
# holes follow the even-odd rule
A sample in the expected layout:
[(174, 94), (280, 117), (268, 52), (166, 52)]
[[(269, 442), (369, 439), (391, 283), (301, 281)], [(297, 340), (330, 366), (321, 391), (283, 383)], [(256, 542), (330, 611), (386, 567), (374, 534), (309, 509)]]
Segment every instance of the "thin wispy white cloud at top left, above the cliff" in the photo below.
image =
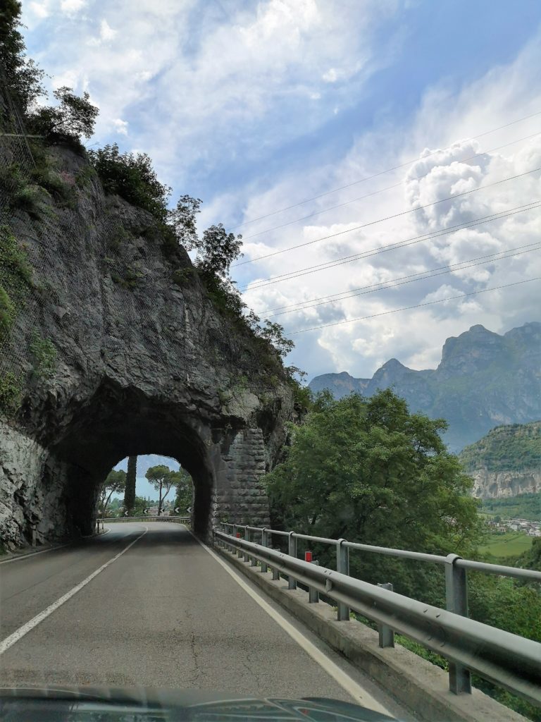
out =
[[(69, 69), (76, 90), (89, 88), (101, 108), (99, 142), (107, 142), (115, 118), (125, 119), (164, 181), (182, 192), (216, 164), (265, 162), (325, 126), (338, 107), (335, 86), (347, 81), (359, 91), (387, 62), (372, 31), (396, 12), (394, 0), (366, 0), (362, 8), (259, 0), (226, 13), (205, 0), (140, 0), (136, 7), (113, 0), (102, 18), (102, 4), (86, 0), (74, 25), (70, 16), (82, 0), (49, 2), (43, 66), (55, 77)], [(330, 69), (338, 77), (333, 88), (322, 79)], [(355, 99), (343, 94), (340, 108)]]

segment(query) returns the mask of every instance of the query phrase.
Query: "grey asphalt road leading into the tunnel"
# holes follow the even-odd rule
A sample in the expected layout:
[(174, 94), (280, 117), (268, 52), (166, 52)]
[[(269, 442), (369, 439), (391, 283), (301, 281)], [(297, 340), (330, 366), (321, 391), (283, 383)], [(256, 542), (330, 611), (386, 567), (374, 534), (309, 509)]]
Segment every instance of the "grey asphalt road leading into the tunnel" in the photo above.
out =
[(232, 570), (183, 526), (163, 522), (112, 524), (82, 544), (0, 562), (0, 686), (144, 685), (359, 702), (331, 677), (330, 659), (359, 685), (366, 706), (375, 699), (406, 717), (276, 604), (266, 600), (265, 611), (224, 565)]

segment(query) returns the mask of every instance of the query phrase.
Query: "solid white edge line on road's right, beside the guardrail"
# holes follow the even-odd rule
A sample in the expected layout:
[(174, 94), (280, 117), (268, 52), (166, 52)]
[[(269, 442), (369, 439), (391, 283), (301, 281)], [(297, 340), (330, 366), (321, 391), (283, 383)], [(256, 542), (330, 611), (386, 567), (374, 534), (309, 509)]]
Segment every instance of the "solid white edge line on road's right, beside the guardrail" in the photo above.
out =
[[(190, 534), (192, 532), (190, 531)], [(280, 612), (278, 612), (277, 609), (273, 609), (271, 604), (268, 604), (265, 599), (263, 599), (262, 596), (255, 590), (253, 590), (250, 586), (247, 585), (245, 580), (240, 578), (239, 574), (234, 570), (234, 568), (229, 567), (226, 562), (224, 562), (223, 559), (219, 557), (216, 552), (213, 552), (212, 549), (206, 546), (206, 544), (203, 544), (202, 541), (200, 541), (197, 536), (192, 534), (193, 538), (201, 544), (201, 547), (205, 549), (208, 554), (213, 557), (213, 559), (219, 563), (226, 572), (232, 576), (232, 578), (237, 582), (239, 586), (241, 586), (244, 591), (249, 594), (252, 599), (254, 599), (259, 606), (267, 612), (269, 617), (272, 617), (274, 621), (282, 627), (284, 632), (287, 632), (291, 639), (293, 639), (304, 651), (312, 657), (312, 659), (317, 662), (326, 672), (327, 674), (330, 674), (331, 677), (335, 680), (335, 682), (338, 682), (340, 684), (340, 687), (343, 688), (343, 690), (346, 690), (351, 697), (353, 697), (354, 700), (360, 705), (364, 705), (365, 707), (369, 707), (370, 709), (380, 712), (382, 714), (389, 715), (392, 717), (392, 714), (389, 710), (384, 708), (382, 704), (377, 702), (377, 700), (374, 699), (371, 695), (369, 695), (368, 692), (366, 692), (360, 684), (355, 682), (355, 680), (347, 674), (347, 672), (343, 671), (343, 669), (340, 669), (338, 664), (336, 664), (330, 657), (328, 657), (325, 652), (322, 652), (320, 649), (316, 647), (314, 643), (312, 643), (309, 639), (307, 639), (302, 632), (299, 632), (299, 630), (294, 627), (291, 622), (288, 622), (287, 619), (285, 619)]]

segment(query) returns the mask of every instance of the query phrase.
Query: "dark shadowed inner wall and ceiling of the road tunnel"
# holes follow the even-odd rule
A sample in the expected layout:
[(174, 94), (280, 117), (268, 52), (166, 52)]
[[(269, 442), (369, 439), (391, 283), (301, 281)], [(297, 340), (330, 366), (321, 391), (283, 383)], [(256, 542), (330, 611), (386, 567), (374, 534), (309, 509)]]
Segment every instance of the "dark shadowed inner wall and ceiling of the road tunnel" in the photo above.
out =
[(190, 474), (192, 528), (208, 536), (216, 474), (209, 453), (211, 424), (201, 411), (107, 384), (70, 417), (50, 445), (63, 466), (68, 534), (92, 534), (100, 487), (123, 458), (157, 454), (175, 459)]

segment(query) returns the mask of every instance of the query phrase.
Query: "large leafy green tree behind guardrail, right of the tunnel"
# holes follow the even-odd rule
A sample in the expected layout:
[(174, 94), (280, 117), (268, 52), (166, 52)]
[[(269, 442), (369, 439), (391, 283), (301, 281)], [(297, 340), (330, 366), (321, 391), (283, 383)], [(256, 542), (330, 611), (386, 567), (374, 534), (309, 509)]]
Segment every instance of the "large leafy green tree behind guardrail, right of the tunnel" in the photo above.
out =
[[(471, 479), (441, 440), (445, 427), (441, 419), (410, 414), (390, 390), (340, 401), (320, 394), (304, 424), (290, 426), (286, 460), (268, 474), (273, 517), (316, 536), (470, 552), (480, 533), (477, 503)], [(393, 581), (397, 591), (421, 593), (424, 601), (441, 597), (437, 570), (426, 565), (370, 554), (352, 554), (351, 565), (366, 580)]]

